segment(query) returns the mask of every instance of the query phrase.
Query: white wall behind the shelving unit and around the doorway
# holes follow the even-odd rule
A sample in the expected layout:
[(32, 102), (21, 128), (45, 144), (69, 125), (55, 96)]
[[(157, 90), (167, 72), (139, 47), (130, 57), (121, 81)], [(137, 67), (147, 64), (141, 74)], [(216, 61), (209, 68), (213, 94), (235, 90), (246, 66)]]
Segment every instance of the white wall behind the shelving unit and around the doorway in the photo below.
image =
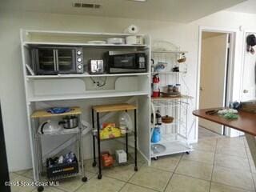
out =
[[(152, 14), (152, 13), (150, 13)], [(251, 14), (220, 12), (190, 24), (171, 22), (150, 22), (125, 18), (99, 18), (78, 15), (42, 14), (42, 13), (6, 13), (0, 11), (0, 98), (6, 135), (6, 148), (10, 170), (31, 167), (29, 134), (26, 127), (26, 104), (22, 82), (22, 61), (19, 29), (34, 30), (74, 30), (122, 32), (126, 26), (134, 23), (140, 26), (141, 33), (151, 34), (152, 38), (165, 39), (188, 50), (187, 85), (190, 94), (196, 97), (197, 61), (198, 61), (198, 26), (222, 26), (238, 29), (245, 25), (253, 27), (256, 17)], [(238, 34), (238, 46), (242, 45), (242, 33)], [(237, 50), (236, 77), (239, 75), (241, 50)], [(235, 90), (238, 95), (238, 90)], [(196, 99), (194, 99), (196, 101)], [(192, 109), (195, 108), (193, 104)], [(196, 141), (197, 130), (190, 116), (190, 140)]]

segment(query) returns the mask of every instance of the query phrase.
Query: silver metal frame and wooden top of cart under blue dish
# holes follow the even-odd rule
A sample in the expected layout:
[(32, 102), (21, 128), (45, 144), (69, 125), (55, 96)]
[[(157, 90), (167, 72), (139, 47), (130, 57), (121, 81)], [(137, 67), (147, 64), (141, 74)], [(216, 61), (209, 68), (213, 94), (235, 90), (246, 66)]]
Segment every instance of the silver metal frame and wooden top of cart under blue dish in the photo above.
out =
[[(61, 134), (75, 134), (77, 136), (78, 141), (78, 173), (69, 174), (67, 171), (67, 174), (59, 175), (55, 178), (49, 178), (50, 181), (56, 181), (60, 180), (62, 178), (70, 178), (78, 175), (83, 175), (82, 182), (86, 182), (87, 178), (84, 172), (84, 166), (83, 166), (83, 154), (82, 154), (82, 123), (81, 123), (81, 114), (82, 111), (79, 107), (70, 107), (70, 111), (62, 114), (51, 114), (47, 112), (46, 110), (36, 110), (31, 115), (31, 121), (32, 125), (34, 126), (34, 157), (36, 158), (36, 166), (35, 166), (35, 173), (36, 178), (34, 178), (35, 181), (42, 181), (42, 176), (45, 175), (45, 169), (46, 167), (43, 166), (43, 160), (42, 160), (42, 137), (44, 136), (52, 136), (52, 135), (61, 135)], [(39, 134), (38, 133), (38, 125), (39, 125), (39, 119), (40, 118), (54, 118), (54, 117), (60, 117), (60, 116), (77, 116), (78, 117), (78, 127), (74, 128), (74, 130), (59, 130), (54, 133), (44, 133)], [(38, 191), (44, 190), (43, 186), (38, 186)]]

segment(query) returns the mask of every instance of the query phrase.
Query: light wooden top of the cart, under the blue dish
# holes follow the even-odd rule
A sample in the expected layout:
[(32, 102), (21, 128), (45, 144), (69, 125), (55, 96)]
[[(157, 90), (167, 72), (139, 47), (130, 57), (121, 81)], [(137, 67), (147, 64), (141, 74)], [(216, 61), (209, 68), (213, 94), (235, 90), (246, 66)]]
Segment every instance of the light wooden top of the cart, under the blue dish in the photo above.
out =
[(70, 107), (71, 110), (66, 113), (62, 114), (51, 114), (47, 112), (47, 110), (36, 110), (33, 114), (31, 114), (31, 118), (50, 118), (50, 117), (57, 117), (57, 116), (66, 116), (66, 115), (76, 115), (82, 114), (82, 110), (78, 106)]

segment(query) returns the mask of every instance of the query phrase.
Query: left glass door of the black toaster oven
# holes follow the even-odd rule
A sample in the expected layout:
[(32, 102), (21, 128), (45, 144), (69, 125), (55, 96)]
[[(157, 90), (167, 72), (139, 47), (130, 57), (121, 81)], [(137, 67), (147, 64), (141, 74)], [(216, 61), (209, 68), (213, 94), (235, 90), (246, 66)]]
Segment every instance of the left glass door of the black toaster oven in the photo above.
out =
[(56, 73), (55, 54), (53, 49), (39, 48), (36, 50), (38, 61), (36, 70), (38, 74), (54, 74)]

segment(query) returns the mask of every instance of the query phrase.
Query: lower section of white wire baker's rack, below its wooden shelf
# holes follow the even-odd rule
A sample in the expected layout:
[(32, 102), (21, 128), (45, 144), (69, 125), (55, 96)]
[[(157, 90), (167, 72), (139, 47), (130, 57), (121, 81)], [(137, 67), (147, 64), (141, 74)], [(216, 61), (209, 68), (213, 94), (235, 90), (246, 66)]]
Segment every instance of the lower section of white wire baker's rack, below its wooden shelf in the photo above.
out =
[[(188, 140), (187, 129), (187, 110), (190, 97), (182, 96), (181, 98), (154, 98), (152, 99), (152, 113), (159, 110), (161, 114), (168, 114), (174, 118), (171, 123), (163, 123), (160, 125), (161, 141), (151, 142), (151, 158), (155, 160), (160, 156), (168, 154), (190, 153), (192, 146)], [(155, 125), (151, 125), (151, 137), (154, 132)]]

